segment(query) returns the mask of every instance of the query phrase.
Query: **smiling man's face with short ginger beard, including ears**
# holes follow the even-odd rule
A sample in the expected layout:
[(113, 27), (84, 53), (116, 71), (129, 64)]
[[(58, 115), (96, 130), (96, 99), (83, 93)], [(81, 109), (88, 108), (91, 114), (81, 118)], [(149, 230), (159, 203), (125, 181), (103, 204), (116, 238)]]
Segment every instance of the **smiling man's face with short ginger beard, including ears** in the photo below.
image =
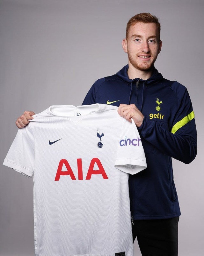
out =
[(161, 51), (155, 23), (137, 22), (128, 32), (128, 40), (122, 41), (123, 50), (128, 53), (128, 63), (141, 71), (149, 71)]

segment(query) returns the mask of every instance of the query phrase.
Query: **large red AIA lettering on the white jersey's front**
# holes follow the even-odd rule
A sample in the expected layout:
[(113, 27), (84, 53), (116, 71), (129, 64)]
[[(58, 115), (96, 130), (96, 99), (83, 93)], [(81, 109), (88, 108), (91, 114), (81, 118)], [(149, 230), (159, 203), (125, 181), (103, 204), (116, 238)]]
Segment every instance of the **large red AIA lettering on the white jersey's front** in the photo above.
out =
[[(62, 171), (63, 165), (65, 165), (65, 169), (66, 169), (65, 171)], [(94, 170), (95, 168), (98, 168), (98, 170)], [(84, 180), (81, 158), (77, 158), (77, 171), (78, 171), (78, 180)], [(89, 165), (89, 169), (86, 175), (86, 180), (91, 180), (91, 175), (93, 174), (101, 174), (104, 180), (108, 179), (108, 176), (103, 168), (103, 165), (101, 164), (101, 161), (98, 158), (91, 159), (91, 163)], [(66, 159), (60, 160), (57, 168), (57, 173), (55, 176), (55, 181), (60, 180), (61, 175), (70, 175), (70, 178), (72, 180), (76, 180), (74, 172), (72, 171), (71, 166), (69, 165)]]

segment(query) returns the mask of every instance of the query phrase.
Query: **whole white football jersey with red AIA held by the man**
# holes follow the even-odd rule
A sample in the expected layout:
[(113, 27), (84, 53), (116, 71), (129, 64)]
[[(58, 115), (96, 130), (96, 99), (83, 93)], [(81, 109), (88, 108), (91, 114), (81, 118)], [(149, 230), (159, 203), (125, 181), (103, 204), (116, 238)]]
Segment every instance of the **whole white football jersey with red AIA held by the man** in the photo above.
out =
[(36, 256), (134, 255), (128, 173), (147, 165), (117, 107), (49, 107), (18, 130), (3, 164), (33, 176)]

